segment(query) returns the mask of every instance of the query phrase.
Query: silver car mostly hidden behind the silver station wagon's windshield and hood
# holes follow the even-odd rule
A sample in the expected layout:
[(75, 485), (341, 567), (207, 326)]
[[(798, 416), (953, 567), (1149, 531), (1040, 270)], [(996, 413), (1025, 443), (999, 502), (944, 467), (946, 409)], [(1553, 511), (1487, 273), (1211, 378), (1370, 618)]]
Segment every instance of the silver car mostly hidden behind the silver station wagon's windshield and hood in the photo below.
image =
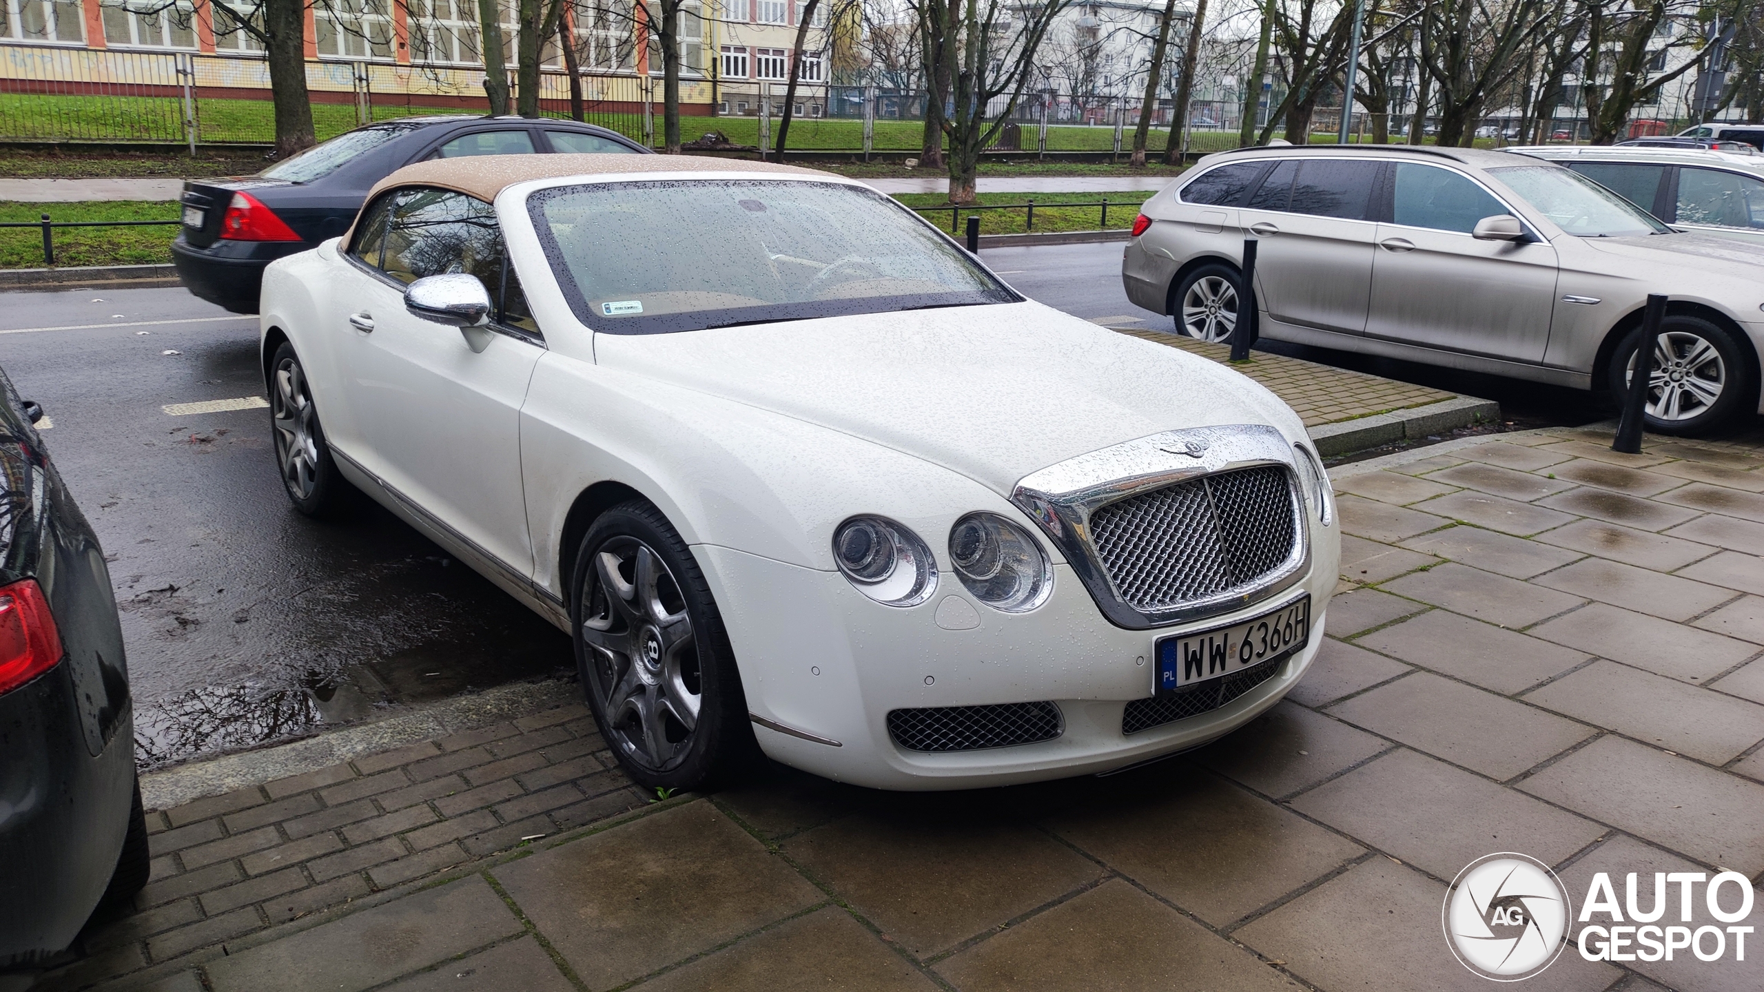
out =
[(1683, 231), (1764, 244), (1764, 155), (1609, 145), (1506, 150), (1568, 166)]

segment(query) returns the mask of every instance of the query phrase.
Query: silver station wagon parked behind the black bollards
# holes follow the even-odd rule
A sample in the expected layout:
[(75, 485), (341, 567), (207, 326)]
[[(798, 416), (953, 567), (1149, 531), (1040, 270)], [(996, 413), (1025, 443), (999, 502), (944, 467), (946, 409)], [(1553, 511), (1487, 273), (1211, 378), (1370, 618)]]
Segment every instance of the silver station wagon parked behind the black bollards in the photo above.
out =
[(1148, 199), (1127, 298), (1226, 341), (1245, 238), (1258, 332), (1344, 351), (1623, 390), (1649, 293), (1671, 297), (1648, 429), (1759, 410), (1764, 245), (1674, 231), (1551, 162), (1473, 148), (1261, 147)]

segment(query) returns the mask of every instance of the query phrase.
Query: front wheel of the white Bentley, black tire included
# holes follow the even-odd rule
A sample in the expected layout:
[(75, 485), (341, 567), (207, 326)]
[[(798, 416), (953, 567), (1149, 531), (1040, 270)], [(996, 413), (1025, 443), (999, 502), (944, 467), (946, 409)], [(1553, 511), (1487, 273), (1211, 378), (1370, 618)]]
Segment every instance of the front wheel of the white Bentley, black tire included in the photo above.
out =
[[(651, 565), (653, 593), (639, 570), (646, 549), (662, 567)], [(630, 595), (610, 588), (603, 568)], [(642, 500), (607, 510), (582, 537), (572, 572), (582, 692), (624, 773), (644, 789), (700, 789), (746, 773), (759, 747), (736, 655), (704, 572), (667, 517)], [(677, 715), (693, 706), (686, 727)]]

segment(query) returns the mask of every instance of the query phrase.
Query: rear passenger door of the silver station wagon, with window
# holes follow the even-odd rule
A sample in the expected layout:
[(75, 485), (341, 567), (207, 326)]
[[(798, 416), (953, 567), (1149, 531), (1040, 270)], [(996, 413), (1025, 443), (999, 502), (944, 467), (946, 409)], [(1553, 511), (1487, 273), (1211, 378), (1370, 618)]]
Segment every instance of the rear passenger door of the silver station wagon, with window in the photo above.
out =
[(1365, 159), (1286, 159), (1238, 210), (1244, 237), (1256, 238), (1256, 293), (1270, 321), (1365, 330), (1378, 169)]

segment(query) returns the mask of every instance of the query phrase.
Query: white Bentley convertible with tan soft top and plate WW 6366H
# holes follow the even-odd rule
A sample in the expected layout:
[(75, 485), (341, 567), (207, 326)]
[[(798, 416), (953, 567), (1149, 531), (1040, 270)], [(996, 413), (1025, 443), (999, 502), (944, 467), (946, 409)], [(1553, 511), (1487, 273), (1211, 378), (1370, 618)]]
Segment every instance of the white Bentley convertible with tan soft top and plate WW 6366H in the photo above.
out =
[(1298, 417), (1025, 300), (870, 187), (423, 162), (273, 263), (288, 494), (358, 487), (575, 637), (644, 785), (1108, 771), (1275, 704), (1339, 537)]

